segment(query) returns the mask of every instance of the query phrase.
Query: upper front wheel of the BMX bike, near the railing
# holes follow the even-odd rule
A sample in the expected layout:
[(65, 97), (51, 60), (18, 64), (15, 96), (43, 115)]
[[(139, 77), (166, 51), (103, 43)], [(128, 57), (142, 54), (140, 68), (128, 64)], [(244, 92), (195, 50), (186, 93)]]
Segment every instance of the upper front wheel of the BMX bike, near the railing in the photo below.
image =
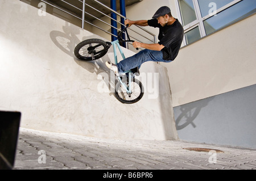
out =
[(108, 48), (108, 43), (101, 39), (88, 39), (79, 43), (74, 53), (80, 60), (91, 61), (103, 57), (108, 52)]

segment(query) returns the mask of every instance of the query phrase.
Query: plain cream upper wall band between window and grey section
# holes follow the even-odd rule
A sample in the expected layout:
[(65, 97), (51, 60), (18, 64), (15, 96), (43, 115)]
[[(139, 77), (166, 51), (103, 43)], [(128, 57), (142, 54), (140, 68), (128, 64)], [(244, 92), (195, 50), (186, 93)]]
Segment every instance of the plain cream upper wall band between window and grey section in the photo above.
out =
[(173, 106), (256, 84), (256, 15), (184, 47), (166, 66)]

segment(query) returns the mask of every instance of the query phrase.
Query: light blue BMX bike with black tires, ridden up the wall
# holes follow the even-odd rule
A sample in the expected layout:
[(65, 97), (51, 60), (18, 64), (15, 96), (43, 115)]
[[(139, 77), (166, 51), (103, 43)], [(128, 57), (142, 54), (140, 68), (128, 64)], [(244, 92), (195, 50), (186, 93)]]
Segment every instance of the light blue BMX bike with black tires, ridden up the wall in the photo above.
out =
[[(133, 42), (133, 40), (130, 40), (127, 33), (127, 27), (128, 25), (118, 33), (118, 39), (112, 42), (107, 42), (101, 39), (88, 39), (82, 41), (74, 50), (75, 56), (82, 61), (97, 60), (105, 56), (109, 48), (113, 45), (114, 61), (115, 64), (117, 64), (117, 47), (122, 58), (125, 59), (120, 43)], [(126, 33), (128, 40), (122, 39), (122, 33)], [(117, 76), (118, 82), (115, 85), (115, 96), (121, 103), (133, 104), (142, 99), (144, 95), (143, 85), (141, 81), (134, 78), (134, 74), (137, 72), (138, 68), (135, 68)]]

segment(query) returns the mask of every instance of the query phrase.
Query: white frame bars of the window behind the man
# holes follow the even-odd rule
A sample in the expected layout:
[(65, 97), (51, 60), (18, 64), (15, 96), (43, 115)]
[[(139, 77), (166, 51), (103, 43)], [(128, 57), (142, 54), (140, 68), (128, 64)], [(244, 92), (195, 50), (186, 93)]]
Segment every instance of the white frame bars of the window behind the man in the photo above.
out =
[[(193, 28), (199, 27), (199, 32), (200, 32), (200, 36), (201, 38), (204, 36), (207, 36), (207, 33), (205, 31), (205, 27), (204, 27), (204, 21), (211, 18), (212, 16), (214, 16), (215, 14), (208, 14), (206, 16), (202, 16), (201, 15), (201, 10), (200, 10), (200, 6), (199, 6), (199, 2), (198, 0), (192, 0), (193, 1), (193, 5), (195, 7), (195, 13), (196, 13), (196, 20), (194, 20), (193, 22), (187, 24), (186, 26), (183, 26), (184, 28), (184, 33), (187, 33), (191, 30), (193, 30)], [(232, 7), (233, 5), (236, 5), (236, 3), (241, 2), (243, 0), (233, 0), (232, 2), (228, 3), (225, 6), (222, 6), (220, 9), (217, 9), (216, 14), (228, 9), (229, 7)], [(179, 0), (175, 1), (176, 4), (176, 10), (177, 10), (177, 19), (179, 19), (179, 21), (181, 22), (181, 24), (183, 24), (182, 18), (181, 18), (181, 12), (180, 12), (180, 5), (179, 5)], [(183, 38), (183, 46), (188, 45), (189, 43), (187, 43), (187, 41), (185, 40), (185, 36)]]

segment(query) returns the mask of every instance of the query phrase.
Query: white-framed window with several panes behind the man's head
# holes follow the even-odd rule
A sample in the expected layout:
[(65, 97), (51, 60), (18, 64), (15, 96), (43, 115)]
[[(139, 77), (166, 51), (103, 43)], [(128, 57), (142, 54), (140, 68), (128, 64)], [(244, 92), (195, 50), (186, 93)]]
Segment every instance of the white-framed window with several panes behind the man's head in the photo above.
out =
[(184, 45), (254, 14), (254, 0), (176, 0), (184, 27)]

